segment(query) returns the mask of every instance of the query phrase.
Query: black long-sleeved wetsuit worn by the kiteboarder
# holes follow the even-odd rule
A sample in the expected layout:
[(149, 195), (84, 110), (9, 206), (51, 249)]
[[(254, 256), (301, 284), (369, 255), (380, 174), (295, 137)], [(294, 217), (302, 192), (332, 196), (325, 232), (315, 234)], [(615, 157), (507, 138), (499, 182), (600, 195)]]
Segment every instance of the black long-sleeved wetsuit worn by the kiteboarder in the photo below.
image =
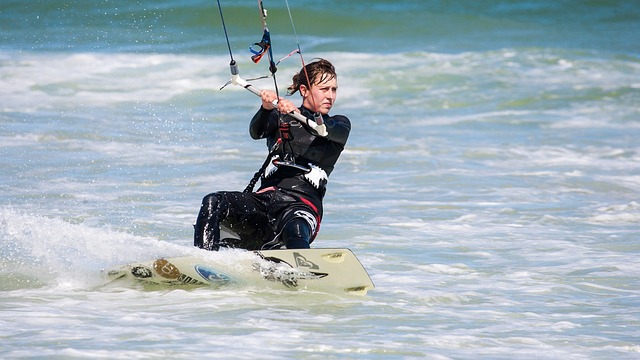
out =
[[(303, 115), (311, 112), (300, 108)], [(272, 150), (256, 192), (221, 191), (204, 197), (194, 245), (207, 250), (308, 248), (322, 220), (327, 178), (349, 137), (345, 116), (323, 116), (328, 135), (276, 110), (260, 108), (249, 133)]]

